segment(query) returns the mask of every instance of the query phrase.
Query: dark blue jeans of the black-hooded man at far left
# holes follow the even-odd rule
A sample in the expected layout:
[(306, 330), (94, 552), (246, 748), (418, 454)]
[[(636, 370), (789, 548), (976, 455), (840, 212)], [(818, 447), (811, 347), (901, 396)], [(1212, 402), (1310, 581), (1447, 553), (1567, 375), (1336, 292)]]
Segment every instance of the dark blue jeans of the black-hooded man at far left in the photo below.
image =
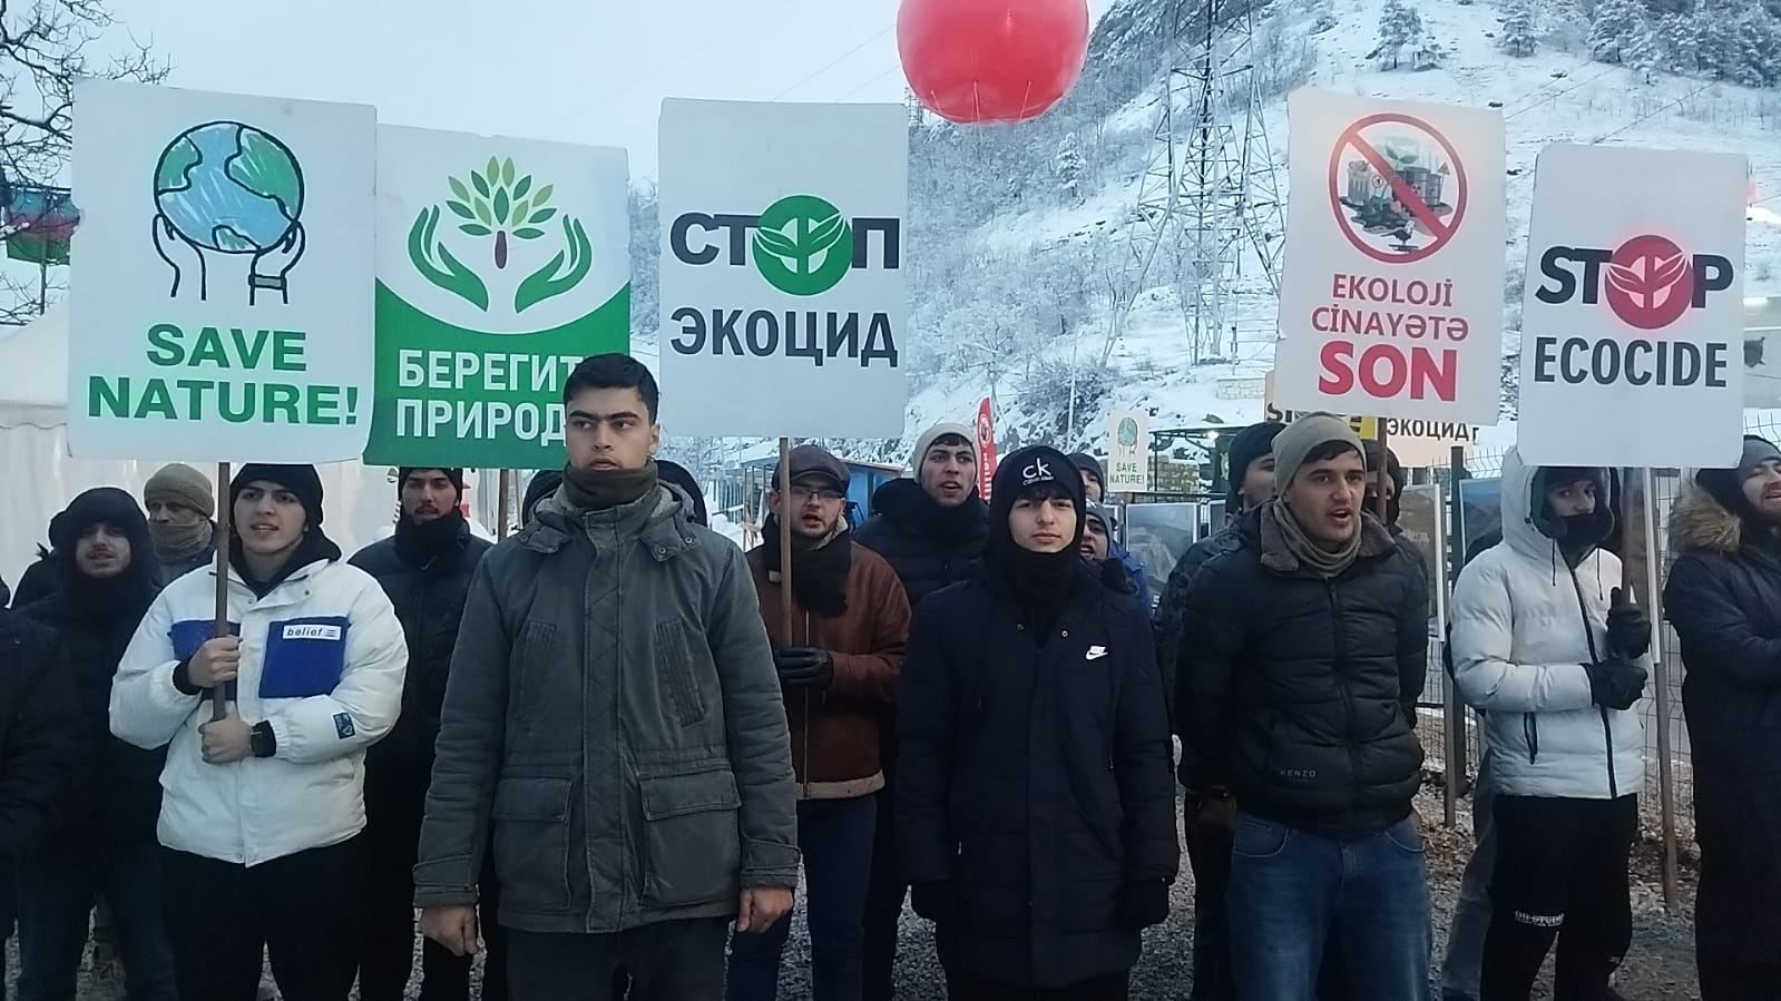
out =
[(160, 846), (75, 839), (20, 859), (18, 997), (66, 1001), (100, 898), (110, 907), (130, 1001), (175, 1001), (173, 946), (160, 908)]

